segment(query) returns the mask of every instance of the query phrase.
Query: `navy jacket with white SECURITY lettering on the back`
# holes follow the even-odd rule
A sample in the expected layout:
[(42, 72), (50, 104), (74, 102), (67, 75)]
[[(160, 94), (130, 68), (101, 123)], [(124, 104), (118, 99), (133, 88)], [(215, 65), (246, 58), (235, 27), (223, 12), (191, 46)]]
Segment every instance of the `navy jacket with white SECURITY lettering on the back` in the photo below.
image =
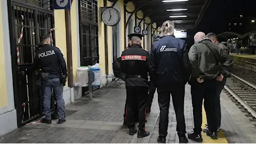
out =
[(152, 44), (156, 86), (186, 84), (190, 76), (190, 63), (184, 40), (173, 35), (164, 36)]

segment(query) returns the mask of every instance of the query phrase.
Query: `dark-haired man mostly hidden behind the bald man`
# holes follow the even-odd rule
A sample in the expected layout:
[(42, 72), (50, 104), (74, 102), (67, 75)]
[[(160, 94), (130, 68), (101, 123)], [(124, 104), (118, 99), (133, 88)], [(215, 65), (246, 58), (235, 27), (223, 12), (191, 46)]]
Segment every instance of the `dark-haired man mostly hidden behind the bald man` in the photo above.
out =
[[(215, 43), (216, 45), (218, 45), (218, 47), (220, 49), (219, 50), (219, 53), (220, 53), (220, 56), (229, 56), (229, 49), (224, 45), (224, 44), (221, 44), (219, 41), (218, 41), (218, 38), (216, 36), (215, 33), (209, 33), (206, 35), (206, 38), (207, 39), (210, 39), (211, 42)], [(230, 59), (232, 59), (232, 57), (230, 56)], [(232, 68), (232, 63), (229, 63), (228, 67), (229, 68), (229, 71), (230, 69)], [(223, 65), (220, 63), (220, 66)], [(225, 68), (225, 67), (224, 67)], [(219, 81), (218, 82), (218, 86), (217, 86), (217, 97), (216, 97), (216, 117), (217, 117), (217, 126), (218, 126), (218, 130), (220, 128), (220, 124), (221, 124), (221, 110), (220, 110), (220, 93), (222, 91), (222, 89), (224, 88), (225, 84), (226, 84), (226, 81), (227, 81), (227, 76), (224, 76), (224, 79), (222, 81)], [(204, 103), (205, 104), (205, 103)], [(208, 125), (206, 124), (205, 125), (206, 127), (208, 127)], [(208, 128), (205, 128), (204, 129), (204, 132), (207, 132), (209, 129)]]

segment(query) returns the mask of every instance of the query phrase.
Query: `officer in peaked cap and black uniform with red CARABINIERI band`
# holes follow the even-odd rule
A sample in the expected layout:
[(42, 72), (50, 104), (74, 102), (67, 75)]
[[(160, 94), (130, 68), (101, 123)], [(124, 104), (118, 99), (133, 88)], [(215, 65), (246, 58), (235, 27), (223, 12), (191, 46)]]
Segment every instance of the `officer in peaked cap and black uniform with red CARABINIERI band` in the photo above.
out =
[(134, 135), (135, 112), (139, 111), (139, 131), (137, 137), (146, 137), (150, 132), (145, 131), (145, 108), (149, 83), (147, 73), (150, 72), (149, 54), (141, 47), (141, 34), (130, 34), (131, 47), (124, 50), (121, 55), (121, 69), (126, 74), (126, 95), (127, 95), (127, 126), (129, 135)]

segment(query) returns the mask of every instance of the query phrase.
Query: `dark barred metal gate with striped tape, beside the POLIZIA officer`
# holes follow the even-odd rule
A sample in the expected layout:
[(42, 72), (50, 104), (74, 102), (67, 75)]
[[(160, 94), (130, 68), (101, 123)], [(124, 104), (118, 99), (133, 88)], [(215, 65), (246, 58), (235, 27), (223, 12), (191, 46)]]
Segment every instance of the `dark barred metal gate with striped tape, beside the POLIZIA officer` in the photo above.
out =
[[(33, 1), (32, 4), (37, 4), (37, 6), (29, 6), (31, 1), (26, 2), (12, 1), (12, 18), (9, 19), (12, 22), (13, 38), (16, 42), (12, 49), (17, 50), (16, 54), (12, 53), (12, 56), (16, 57), (16, 63), (14, 62), (12, 66), (16, 67), (14, 78), (17, 79), (14, 80), (14, 85), (16, 85), (17, 94), (14, 95), (14, 100), (18, 127), (37, 119), (43, 114), (42, 87), (36, 85), (39, 76), (35, 75), (32, 70), (32, 64), (36, 44), (40, 42), (40, 37), (49, 34), (50, 29), (54, 26), (53, 1)], [(23, 37), (18, 44), (22, 29)]]

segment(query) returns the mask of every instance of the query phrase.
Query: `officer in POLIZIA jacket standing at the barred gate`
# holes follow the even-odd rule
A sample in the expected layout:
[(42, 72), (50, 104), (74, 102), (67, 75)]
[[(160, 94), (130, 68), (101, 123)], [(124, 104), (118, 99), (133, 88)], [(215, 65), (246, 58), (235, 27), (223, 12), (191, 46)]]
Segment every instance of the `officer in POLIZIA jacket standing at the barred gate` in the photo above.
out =
[(33, 69), (42, 69), (42, 86), (44, 90), (43, 111), (45, 112), (45, 119), (43, 123), (51, 124), (51, 96), (52, 88), (55, 91), (57, 111), (58, 111), (58, 124), (65, 122), (65, 110), (63, 100), (63, 84), (61, 81), (62, 76), (67, 77), (66, 62), (60, 52), (60, 49), (52, 47), (50, 35), (42, 37), (42, 48), (38, 49)]

